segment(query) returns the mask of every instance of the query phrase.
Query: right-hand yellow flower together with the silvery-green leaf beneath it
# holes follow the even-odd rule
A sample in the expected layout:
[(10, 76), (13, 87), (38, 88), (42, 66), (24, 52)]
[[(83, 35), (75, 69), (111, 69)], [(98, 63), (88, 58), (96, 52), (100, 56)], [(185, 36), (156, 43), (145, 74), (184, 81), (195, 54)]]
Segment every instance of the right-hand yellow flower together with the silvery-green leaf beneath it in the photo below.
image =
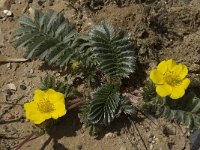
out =
[(144, 109), (158, 117), (184, 124), (190, 129), (200, 127), (200, 98), (188, 89), (188, 69), (172, 59), (162, 61), (151, 71), (144, 89)]

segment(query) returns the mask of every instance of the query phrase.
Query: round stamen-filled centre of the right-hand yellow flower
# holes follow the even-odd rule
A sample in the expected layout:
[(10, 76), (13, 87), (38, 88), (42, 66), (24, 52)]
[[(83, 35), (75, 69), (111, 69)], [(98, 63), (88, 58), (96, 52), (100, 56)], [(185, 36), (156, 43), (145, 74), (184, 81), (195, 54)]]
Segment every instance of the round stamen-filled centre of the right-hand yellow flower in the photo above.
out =
[(171, 86), (176, 86), (181, 83), (179, 76), (173, 71), (166, 72), (164, 74), (164, 80), (167, 84), (169, 84)]

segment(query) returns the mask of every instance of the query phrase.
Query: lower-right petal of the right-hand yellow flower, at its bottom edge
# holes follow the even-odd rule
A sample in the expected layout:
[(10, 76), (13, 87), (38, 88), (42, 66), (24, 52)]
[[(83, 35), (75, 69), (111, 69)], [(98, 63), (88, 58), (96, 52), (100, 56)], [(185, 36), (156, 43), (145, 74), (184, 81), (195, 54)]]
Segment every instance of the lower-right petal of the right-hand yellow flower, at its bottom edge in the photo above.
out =
[(183, 97), (183, 95), (185, 94), (185, 89), (183, 88), (183, 86), (175, 86), (172, 88), (172, 94), (170, 95), (170, 97), (172, 99), (179, 99), (181, 97)]

